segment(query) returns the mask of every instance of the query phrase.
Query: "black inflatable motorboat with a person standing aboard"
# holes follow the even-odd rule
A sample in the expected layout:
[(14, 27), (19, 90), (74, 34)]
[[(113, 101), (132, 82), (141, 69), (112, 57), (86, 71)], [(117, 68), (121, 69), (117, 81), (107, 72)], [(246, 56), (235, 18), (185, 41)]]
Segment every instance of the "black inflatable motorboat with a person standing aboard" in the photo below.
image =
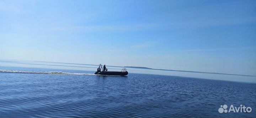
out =
[[(99, 68), (102, 69), (102, 65), (99, 65)], [(107, 70), (107, 69), (106, 69)], [(116, 76), (126, 76), (128, 75), (128, 71), (126, 70), (126, 68), (123, 68), (122, 71), (96, 71), (94, 74), (96, 75), (116, 75)]]

